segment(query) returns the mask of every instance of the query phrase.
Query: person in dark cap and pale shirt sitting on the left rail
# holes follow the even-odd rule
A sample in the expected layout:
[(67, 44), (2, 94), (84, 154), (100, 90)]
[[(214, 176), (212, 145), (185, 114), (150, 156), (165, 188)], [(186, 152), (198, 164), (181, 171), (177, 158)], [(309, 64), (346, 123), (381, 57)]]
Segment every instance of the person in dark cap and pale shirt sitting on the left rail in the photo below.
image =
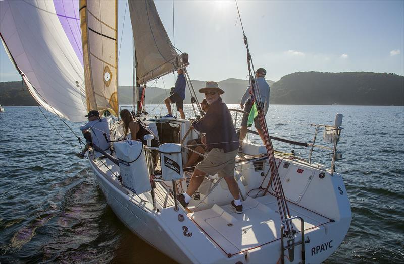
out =
[(82, 152), (76, 153), (76, 156), (80, 159), (84, 158), (84, 154), (92, 145), (96, 145), (103, 150), (110, 148), (110, 143), (106, 141), (104, 134), (106, 134), (108, 141), (111, 140), (110, 127), (106, 118), (100, 118), (97, 110), (91, 110), (85, 116), (88, 118), (88, 122), (80, 126), (80, 130), (87, 143)]

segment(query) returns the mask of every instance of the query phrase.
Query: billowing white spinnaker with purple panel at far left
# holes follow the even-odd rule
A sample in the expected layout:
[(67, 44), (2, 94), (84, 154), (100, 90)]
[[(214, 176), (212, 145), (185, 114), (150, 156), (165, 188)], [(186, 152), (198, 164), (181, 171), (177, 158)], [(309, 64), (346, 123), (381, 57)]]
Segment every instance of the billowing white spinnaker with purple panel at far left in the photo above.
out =
[(40, 105), (73, 122), (87, 112), (78, 1), (0, 1), (3, 45)]

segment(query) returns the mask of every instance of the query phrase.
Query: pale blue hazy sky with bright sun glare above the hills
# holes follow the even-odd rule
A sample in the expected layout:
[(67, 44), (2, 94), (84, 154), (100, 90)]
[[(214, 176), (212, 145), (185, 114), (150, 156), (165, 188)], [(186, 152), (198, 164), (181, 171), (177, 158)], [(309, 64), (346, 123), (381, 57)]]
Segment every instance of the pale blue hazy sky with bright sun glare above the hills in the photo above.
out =
[[(267, 80), (278, 81), (299, 71), (404, 75), (402, 0), (237, 3), (254, 66), (267, 70)], [(247, 78), (235, 1), (158, 0), (155, 4), (171, 41), (189, 54), (191, 79)], [(118, 24), (119, 85), (132, 85), (132, 29), (124, 0), (119, 0)], [(21, 77), (1, 49), (0, 82), (17, 80)], [(160, 78), (155, 85), (170, 88), (174, 75)]]

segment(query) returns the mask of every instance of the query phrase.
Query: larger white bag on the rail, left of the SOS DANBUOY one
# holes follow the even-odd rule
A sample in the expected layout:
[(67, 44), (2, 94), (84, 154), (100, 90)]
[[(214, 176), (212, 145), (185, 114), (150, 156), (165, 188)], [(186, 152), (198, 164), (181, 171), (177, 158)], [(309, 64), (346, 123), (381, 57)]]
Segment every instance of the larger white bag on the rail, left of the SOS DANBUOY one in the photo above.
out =
[(146, 155), (140, 141), (128, 140), (114, 143), (124, 187), (136, 194), (151, 190)]

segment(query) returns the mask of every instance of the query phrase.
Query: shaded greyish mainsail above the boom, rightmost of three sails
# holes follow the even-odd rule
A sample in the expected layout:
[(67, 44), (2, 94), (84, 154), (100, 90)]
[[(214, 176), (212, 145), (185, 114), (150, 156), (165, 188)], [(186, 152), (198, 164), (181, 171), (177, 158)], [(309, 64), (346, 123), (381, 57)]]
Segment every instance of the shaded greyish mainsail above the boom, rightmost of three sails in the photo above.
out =
[(137, 64), (138, 84), (168, 74), (188, 63), (178, 55), (164, 29), (153, 1), (129, 1)]

